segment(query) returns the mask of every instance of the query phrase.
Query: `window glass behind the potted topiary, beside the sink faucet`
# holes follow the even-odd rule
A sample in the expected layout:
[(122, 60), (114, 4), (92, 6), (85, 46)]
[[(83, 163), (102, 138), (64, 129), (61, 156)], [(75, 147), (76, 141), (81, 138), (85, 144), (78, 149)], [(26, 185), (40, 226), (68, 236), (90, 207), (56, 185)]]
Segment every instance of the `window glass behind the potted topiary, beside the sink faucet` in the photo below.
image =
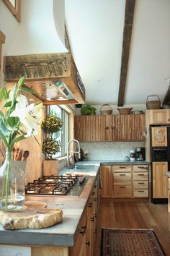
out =
[(68, 145), (68, 125), (69, 125), (69, 114), (58, 105), (50, 105), (48, 106), (48, 114), (53, 114), (60, 117), (61, 121), (63, 121), (63, 129), (59, 132), (59, 134), (53, 134), (53, 139), (60, 140), (61, 142), (61, 151), (56, 155), (53, 155), (53, 158), (65, 155)]

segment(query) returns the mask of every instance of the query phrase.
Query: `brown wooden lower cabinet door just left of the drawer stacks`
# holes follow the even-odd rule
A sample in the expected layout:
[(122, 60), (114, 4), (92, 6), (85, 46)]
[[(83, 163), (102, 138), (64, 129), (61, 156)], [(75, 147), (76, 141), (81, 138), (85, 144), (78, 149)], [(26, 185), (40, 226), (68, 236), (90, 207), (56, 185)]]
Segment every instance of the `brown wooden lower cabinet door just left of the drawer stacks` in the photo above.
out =
[(113, 197), (113, 175), (112, 166), (101, 166), (101, 177), (102, 177), (102, 189), (100, 190), (100, 196), (102, 198)]

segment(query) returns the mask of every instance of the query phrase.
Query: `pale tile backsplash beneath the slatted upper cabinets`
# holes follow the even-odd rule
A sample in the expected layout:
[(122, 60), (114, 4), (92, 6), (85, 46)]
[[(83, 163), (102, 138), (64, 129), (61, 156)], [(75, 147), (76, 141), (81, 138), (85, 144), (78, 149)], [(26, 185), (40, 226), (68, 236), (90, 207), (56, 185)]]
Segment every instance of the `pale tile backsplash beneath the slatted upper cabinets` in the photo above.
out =
[(145, 142), (81, 142), (88, 161), (124, 160), (133, 148), (145, 148)]

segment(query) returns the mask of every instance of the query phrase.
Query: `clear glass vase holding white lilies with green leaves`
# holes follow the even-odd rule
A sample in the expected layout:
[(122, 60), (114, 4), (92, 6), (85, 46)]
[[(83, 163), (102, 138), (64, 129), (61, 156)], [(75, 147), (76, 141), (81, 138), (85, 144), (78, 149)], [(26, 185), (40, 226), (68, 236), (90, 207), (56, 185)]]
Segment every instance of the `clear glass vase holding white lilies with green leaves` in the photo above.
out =
[(0, 138), (6, 151), (0, 167), (0, 210), (17, 210), (24, 205), (24, 170), (18, 167), (19, 161), (12, 161), (12, 151), (15, 143), (35, 137), (40, 128), (42, 103), (29, 104), (22, 92), (36, 93), (22, 85), (24, 77), (12, 90), (0, 89)]

